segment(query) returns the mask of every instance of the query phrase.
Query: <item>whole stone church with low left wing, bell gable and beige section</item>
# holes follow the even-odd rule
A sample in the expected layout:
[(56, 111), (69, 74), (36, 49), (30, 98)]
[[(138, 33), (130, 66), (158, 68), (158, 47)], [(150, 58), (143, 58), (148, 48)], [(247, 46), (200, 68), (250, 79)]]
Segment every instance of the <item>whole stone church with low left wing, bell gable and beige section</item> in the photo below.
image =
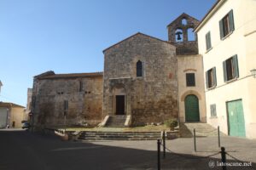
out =
[(138, 32), (113, 44), (103, 50), (103, 72), (34, 77), (34, 125), (141, 126), (170, 117), (206, 122), (202, 56), (193, 32), (198, 23), (181, 14), (167, 26), (168, 41)]

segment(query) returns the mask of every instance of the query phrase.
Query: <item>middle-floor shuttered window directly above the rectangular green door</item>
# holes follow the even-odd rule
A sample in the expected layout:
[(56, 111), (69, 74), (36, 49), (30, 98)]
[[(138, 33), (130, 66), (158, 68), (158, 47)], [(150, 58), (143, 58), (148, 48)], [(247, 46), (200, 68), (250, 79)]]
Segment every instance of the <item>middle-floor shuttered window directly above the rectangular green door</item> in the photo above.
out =
[(224, 60), (223, 71), (224, 71), (224, 82), (228, 82), (232, 79), (239, 77), (237, 55), (230, 57), (230, 59)]

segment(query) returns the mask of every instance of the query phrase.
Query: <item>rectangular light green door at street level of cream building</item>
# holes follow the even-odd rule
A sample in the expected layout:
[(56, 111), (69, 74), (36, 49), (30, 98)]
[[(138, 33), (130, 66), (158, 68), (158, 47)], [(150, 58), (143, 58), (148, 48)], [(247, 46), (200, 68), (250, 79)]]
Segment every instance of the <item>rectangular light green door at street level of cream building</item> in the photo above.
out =
[(241, 99), (227, 102), (230, 136), (245, 137), (245, 123)]

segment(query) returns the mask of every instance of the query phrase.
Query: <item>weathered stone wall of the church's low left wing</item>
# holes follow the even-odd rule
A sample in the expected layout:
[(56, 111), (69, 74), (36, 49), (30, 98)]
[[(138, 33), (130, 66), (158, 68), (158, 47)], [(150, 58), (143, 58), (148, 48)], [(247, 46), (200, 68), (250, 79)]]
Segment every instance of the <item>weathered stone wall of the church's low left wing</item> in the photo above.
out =
[(102, 75), (36, 77), (32, 100), (37, 126), (63, 125), (65, 100), (68, 101), (67, 125), (95, 126), (102, 121)]

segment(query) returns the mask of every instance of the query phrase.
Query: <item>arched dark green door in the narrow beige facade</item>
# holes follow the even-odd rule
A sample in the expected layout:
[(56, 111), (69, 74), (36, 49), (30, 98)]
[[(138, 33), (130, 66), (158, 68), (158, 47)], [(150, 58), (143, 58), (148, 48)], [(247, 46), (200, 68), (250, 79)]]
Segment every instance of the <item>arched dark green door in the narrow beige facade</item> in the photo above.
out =
[(185, 98), (185, 119), (186, 122), (199, 122), (198, 98), (195, 95), (188, 95)]

